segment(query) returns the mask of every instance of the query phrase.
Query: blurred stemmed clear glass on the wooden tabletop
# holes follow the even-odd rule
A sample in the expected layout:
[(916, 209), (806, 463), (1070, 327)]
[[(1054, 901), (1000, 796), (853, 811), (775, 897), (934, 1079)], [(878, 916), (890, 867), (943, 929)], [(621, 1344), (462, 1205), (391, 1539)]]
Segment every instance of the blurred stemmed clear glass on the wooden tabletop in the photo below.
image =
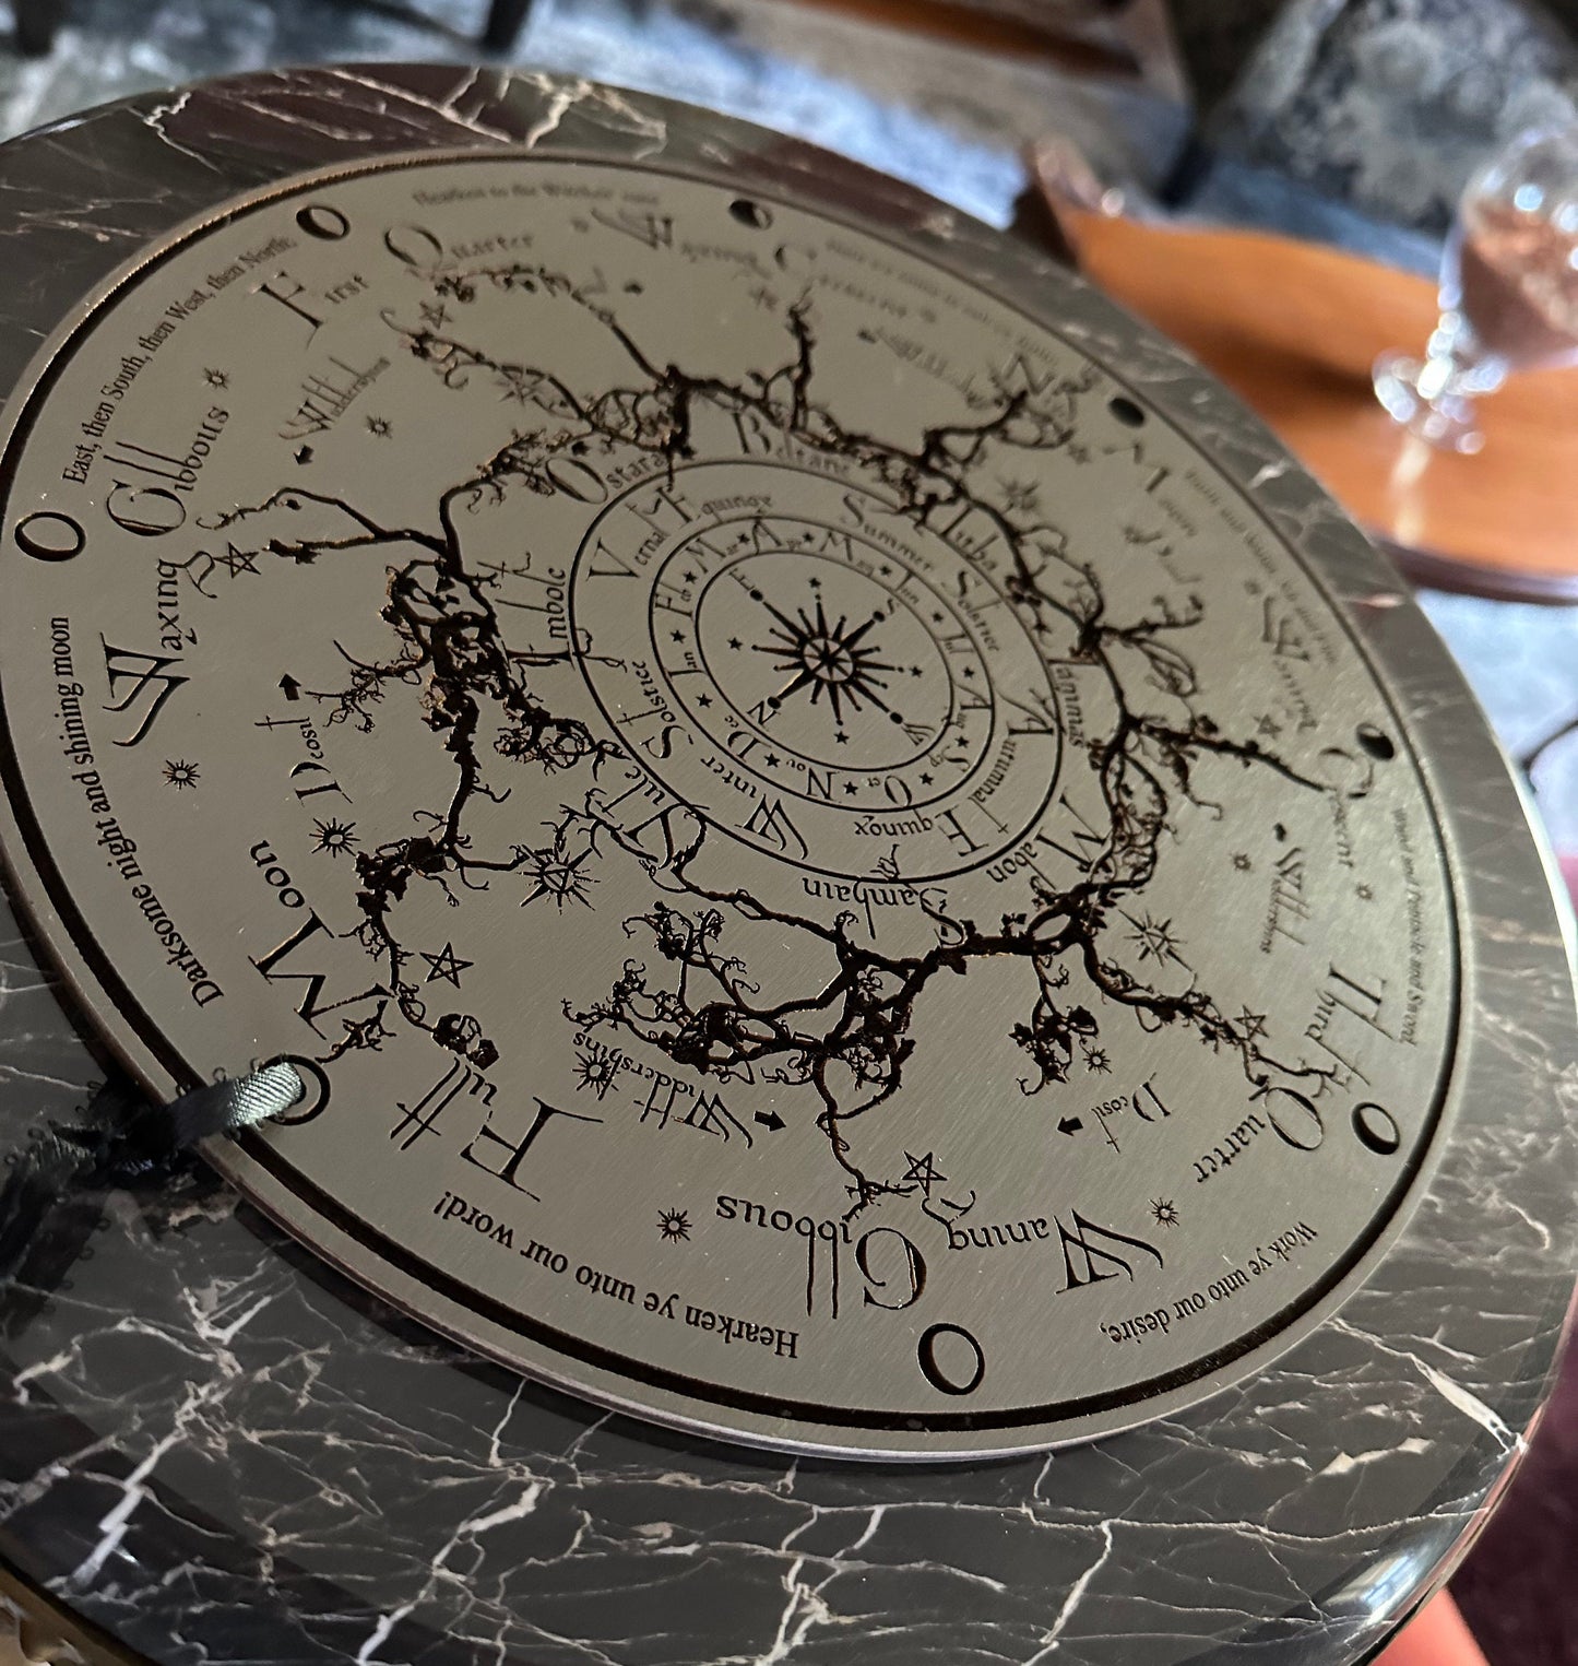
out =
[(1375, 392), (1430, 445), (1478, 451), (1475, 400), (1518, 370), (1578, 363), (1578, 123), (1521, 133), (1468, 182), (1423, 357), (1383, 353)]

